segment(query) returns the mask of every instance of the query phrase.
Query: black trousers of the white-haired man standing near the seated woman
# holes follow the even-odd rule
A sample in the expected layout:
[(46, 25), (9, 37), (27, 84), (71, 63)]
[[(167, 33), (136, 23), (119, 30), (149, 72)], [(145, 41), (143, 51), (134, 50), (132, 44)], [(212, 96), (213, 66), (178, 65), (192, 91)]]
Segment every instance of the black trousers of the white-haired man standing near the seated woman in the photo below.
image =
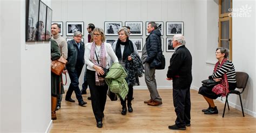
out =
[(190, 87), (185, 89), (173, 88), (173, 105), (177, 115), (175, 124), (178, 127), (185, 127), (186, 123), (190, 123)]

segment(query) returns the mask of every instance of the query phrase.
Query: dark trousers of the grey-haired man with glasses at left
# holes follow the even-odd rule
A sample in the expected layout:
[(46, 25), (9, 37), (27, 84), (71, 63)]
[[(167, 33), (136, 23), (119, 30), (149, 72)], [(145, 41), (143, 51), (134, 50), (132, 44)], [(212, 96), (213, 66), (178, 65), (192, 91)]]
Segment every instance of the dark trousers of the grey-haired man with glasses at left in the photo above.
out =
[(82, 97), (82, 94), (79, 89), (79, 76), (82, 72), (82, 69), (83, 69), (83, 66), (76, 67), (75, 70), (68, 69), (71, 83), (69, 85), (68, 91), (66, 92), (66, 99), (71, 98), (73, 91), (75, 91), (76, 98), (77, 98), (78, 102), (83, 101), (83, 97)]

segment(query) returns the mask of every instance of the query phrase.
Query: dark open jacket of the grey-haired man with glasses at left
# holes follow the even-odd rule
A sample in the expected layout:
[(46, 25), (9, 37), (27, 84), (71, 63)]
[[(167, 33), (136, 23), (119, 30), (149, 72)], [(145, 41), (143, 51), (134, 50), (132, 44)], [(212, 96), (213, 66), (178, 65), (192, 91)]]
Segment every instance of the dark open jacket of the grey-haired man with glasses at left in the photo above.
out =
[[(84, 50), (84, 42), (80, 41), (80, 47)], [(68, 64), (66, 65), (67, 69), (75, 70), (77, 63), (77, 45), (75, 40), (68, 41), (68, 58), (66, 59)], [(83, 59), (84, 65), (84, 59)]]

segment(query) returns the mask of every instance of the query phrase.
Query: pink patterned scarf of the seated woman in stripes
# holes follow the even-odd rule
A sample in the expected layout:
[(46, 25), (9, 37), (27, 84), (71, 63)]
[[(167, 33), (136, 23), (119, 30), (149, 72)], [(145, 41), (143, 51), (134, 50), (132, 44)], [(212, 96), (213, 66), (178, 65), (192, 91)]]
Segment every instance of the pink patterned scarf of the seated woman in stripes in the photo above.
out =
[[(214, 67), (214, 72), (217, 71), (218, 65), (219, 65), (219, 69), (221, 68), (221, 66), (227, 61), (227, 58), (224, 58), (223, 61), (221, 61), (220, 65), (219, 62), (217, 62), (215, 64)], [(214, 92), (215, 94), (221, 94), (221, 97), (225, 97), (228, 93), (228, 82), (227, 82), (227, 73), (225, 73), (221, 79), (221, 83), (215, 85), (212, 88), (212, 92)]]

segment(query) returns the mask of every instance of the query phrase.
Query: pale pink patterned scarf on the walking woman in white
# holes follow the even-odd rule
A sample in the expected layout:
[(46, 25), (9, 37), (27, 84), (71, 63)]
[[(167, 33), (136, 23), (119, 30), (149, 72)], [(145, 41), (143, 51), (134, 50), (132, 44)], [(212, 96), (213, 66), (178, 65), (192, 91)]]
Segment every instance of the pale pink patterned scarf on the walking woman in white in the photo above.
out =
[[(105, 52), (104, 42), (100, 46), (100, 56), (97, 55), (99, 63), (95, 61), (95, 55), (96, 55), (96, 51), (95, 50), (96, 50), (96, 44), (93, 41), (92, 42), (92, 46), (91, 46), (91, 51), (90, 51), (90, 57), (91, 57), (92, 63), (97, 65), (97, 66), (102, 66), (102, 67), (106, 68), (106, 52)], [(99, 77), (97, 72), (95, 72), (95, 84), (97, 86), (103, 86), (105, 84), (104, 83), (104, 78)]]

